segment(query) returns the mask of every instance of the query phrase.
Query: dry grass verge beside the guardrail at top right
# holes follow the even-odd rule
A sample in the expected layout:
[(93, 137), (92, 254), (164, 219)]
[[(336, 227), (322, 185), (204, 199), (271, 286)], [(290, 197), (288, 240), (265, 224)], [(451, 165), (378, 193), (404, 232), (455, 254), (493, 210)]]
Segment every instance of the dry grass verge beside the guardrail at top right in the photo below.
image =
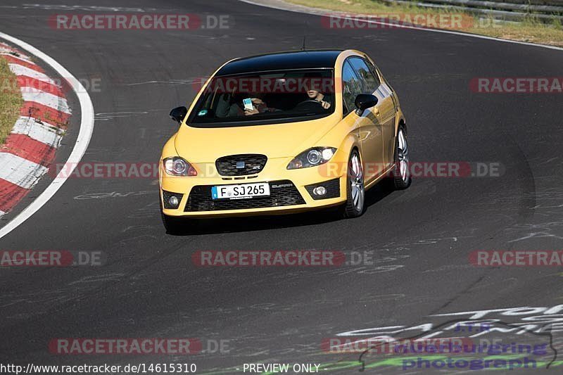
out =
[[(459, 11), (446, 11), (441, 9), (420, 8), (403, 4), (387, 4), (378, 0), (285, 0), (288, 3), (311, 6), (313, 8), (339, 11), (345, 14), (430, 14), (439, 15), (444, 13), (460, 14)], [(502, 23), (479, 23), (478, 18), (469, 13), (462, 13), (463, 19), (472, 19), (472, 25), (456, 28), (461, 32), (498, 37), (502, 39), (516, 40), (519, 42), (531, 42), (538, 44), (549, 44), (552, 46), (563, 46), (563, 27), (559, 20), (553, 19), (551, 23), (542, 23), (538, 20), (525, 20), (518, 24)], [(465, 23), (464, 23), (465, 25)], [(451, 27), (445, 27), (446, 29)]]

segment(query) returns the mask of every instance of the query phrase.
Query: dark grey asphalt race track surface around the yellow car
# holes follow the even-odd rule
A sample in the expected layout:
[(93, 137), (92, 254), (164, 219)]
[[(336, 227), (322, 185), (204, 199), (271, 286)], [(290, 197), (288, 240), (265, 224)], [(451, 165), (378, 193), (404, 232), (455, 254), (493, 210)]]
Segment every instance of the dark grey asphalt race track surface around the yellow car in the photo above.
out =
[[(101, 251), (106, 264), (3, 267), (2, 363), (193, 362), (201, 374), (234, 374), (245, 363), (355, 361), (324, 371), (353, 373), (361, 367), (359, 355), (323, 352), (325, 338), (471, 315), (434, 314), (538, 307), (528, 315), (494, 313), (510, 323), (562, 303), (560, 268), (469, 262), (474, 250), (562, 250), (562, 94), (475, 94), (469, 82), (561, 76), (563, 51), (398, 28), (329, 30), (316, 15), (235, 0), (80, 4), (229, 15), (226, 30), (55, 30), (49, 16), (72, 13), (61, 4), (76, 3), (47, 4), (2, 1), (0, 31), (44, 51), (75, 77), (99, 78), (101, 89), (90, 92), (94, 134), (82, 162), (155, 162), (177, 129), (170, 108), (196, 95), (191, 80), (231, 58), (301, 49), (306, 34), (310, 49), (360, 49), (377, 62), (400, 96), (411, 160), (500, 163), (502, 175), (419, 177), (405, 191), (377, 186), (367, 196), (367, 212), (355, 220), (330, 212), (205, 220), (181, 236), (165, 234), (156, 179), (70, 178), (0, 239), (0, 248)], [(74, 120), (58, 160), (68, 156), (80, 127), (80, 107), (70, 101)], [(371, 251), (374, 262), (262, 269), (191, 262), (196, 250), (296, 249)], [(153, 337), (224, 340), (229, 350), (188, 357), (48, 350), (53, 338)], [(391, 364), (366, 371), (432, 372)]]

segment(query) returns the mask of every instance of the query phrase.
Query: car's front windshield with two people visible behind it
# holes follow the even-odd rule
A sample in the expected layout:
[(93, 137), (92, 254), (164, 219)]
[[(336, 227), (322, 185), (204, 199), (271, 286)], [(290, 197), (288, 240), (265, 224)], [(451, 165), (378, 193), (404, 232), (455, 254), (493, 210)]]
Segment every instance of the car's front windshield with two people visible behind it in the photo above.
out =
[(242, 126), (312, 120), (334, 112), (331, 69), (286, 70), (215, 77), (187, 123)]

